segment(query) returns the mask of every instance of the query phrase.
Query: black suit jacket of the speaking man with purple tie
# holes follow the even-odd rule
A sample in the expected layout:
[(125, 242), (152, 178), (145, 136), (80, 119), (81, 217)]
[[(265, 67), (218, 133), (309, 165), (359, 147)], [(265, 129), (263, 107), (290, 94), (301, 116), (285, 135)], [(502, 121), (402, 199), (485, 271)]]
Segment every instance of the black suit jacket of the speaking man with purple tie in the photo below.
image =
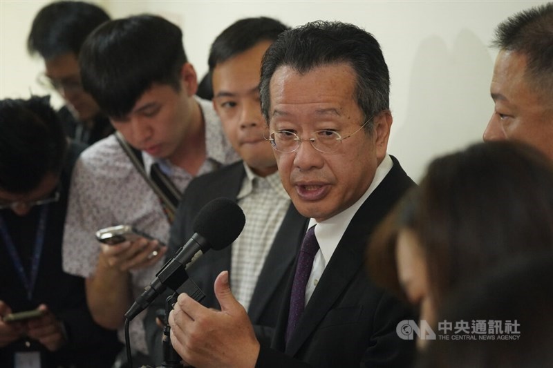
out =
[(364, 260), (369, 235), (412, 185), (393, 158), (390, 173), (348, 225), (286, 345), (290, 278), (272, 349), (261, 347), (256, 367), (411, 365), (413, 341), (400, 339), (395, 329), (398, 322), (414, 316), (408, 307), (368, 279)]

